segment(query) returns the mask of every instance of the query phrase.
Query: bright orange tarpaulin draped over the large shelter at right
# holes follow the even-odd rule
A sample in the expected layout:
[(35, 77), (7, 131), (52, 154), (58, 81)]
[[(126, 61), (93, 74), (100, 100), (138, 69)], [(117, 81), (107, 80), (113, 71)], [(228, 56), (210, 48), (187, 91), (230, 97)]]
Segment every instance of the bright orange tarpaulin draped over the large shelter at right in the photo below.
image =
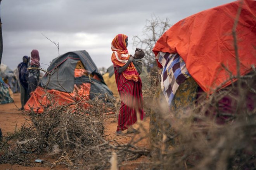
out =
[(154, 54), (180, 54), (190, 75), (205, 92), (230, 85), (230, 73), (237, 75), (232, 28), (240, 7), (235, 32), (240, 74), (245, 75), (256, 64), (255, 0), (235, 1), (180, 20), (160, 37)]

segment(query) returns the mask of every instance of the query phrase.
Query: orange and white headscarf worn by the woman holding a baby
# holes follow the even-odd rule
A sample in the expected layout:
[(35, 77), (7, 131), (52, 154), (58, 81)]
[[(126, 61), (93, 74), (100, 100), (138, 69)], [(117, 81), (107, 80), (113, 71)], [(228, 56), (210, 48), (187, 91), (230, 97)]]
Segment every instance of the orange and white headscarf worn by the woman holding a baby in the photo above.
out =
[[(127, 38), (128, 36), (125, 34), (118, 34), (116, 37), (114, 37), (111, 43), (111, 49), (113, 51), (111, 61), (114, 65), (123, 67), (130, 58), (130, 54), (126, 48), (125, 42)], [(122, 74), (127, 80), (133, 80), (135, 82), (138, 81), (138, 72), (132, 62)]]

